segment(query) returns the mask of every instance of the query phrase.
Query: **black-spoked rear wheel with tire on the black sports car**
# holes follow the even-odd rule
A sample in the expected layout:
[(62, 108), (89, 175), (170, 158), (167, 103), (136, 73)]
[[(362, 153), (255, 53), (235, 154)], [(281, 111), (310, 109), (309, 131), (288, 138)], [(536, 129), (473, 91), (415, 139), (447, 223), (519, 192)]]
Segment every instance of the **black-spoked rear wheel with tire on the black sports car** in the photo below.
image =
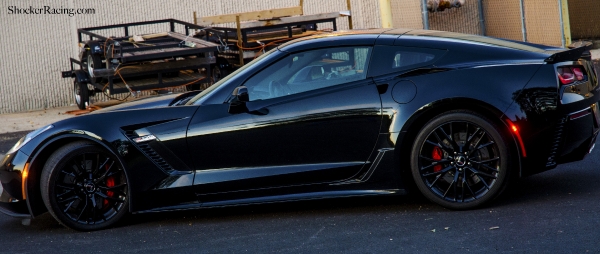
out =
[(500, 195), (509, 181), (511, 160), (499, 130), (470, 111), (430, 120), (411, 151), (411, 173), (419, 191), (454, 210), (479, 207)]

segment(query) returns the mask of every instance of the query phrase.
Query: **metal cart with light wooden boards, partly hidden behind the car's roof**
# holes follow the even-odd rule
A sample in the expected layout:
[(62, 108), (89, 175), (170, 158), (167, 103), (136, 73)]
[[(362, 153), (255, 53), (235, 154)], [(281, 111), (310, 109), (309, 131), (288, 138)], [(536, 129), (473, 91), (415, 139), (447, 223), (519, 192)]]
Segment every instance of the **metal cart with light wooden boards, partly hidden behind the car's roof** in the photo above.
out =
[[(350, 11), (304, 15), (302, 1), (295, 7), (200, 19), (194, 13), (194, 23), (206, 28), (195, 37), (222, 46), (217, 53), (217, 64), (212, 68), (211, 76), (216, 81), (282, 43), (324, 32), (318, 29), (319, 26), (329, 24), (330, 30), (336, 31), (340, 17), (348, 17), (351, 24)], [(235, 27), (215, 27), (226, 23), (235, 24)]]

